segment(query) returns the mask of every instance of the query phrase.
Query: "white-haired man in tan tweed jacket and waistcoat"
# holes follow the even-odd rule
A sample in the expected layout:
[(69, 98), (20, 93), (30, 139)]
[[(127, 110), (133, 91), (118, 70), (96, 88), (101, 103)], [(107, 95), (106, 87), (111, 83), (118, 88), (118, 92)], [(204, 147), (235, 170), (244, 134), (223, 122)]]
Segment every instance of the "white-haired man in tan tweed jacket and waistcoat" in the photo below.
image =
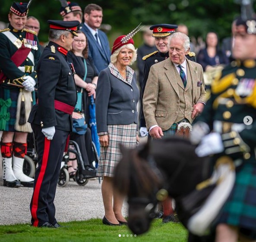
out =
[[(204, 108), (202, 66), (186, 59), (189, 50), (189, 37), (174, 33), (170, 37), (169, 58), (150, 68), (143, 111), (153, 139), (174, 135), (180, 121), (191, 124)], [(183, 80), (180, 72), (185, 74)]]

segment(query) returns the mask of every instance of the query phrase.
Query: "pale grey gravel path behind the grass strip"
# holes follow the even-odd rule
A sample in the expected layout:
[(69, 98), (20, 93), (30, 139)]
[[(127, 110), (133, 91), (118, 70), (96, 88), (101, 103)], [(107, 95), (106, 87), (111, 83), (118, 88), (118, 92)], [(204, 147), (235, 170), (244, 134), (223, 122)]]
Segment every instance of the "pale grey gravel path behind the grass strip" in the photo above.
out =
[[(2, 166), (0, 166), (0, 225), (30, 223), (29, 203), (33, 188), (10, 188), (3, 186)], [(85, 186), (75, 181), (66, 187), (57, 186), (55, 197), (56, 219), (59, 222), (102, 218), (104, 207), (99, 180), (89, 180)], [(126, 215), (126, 205), (123, 214)]]

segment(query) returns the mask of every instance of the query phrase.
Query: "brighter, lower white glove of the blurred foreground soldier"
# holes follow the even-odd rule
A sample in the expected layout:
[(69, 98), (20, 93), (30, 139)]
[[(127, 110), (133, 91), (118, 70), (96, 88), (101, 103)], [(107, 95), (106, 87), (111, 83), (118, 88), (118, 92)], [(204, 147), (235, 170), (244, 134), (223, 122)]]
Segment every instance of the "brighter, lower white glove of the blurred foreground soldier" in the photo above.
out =
[(202, 137), (199, 146), (196, 147), (196, 155), (199, 157), (218, 154), (224, 151), (221, 135), (219, 133), (209, 133)]

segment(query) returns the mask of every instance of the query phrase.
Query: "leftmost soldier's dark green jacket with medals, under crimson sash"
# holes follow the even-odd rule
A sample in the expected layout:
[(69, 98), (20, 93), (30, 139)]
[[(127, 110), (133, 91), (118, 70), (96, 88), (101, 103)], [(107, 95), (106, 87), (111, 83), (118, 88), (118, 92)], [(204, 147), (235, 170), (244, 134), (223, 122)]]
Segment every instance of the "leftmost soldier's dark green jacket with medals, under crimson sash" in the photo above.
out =
[[(34, 49), (31, 48), (31, 53), (34, 56), (34, 63), (32, 62), (31, 59), (24, 58), (24, 62), (20, 65), (20, 67), (24, 67), (25, 71), (22, 71), (21, 69), (19, 69), (11, 60), (11, 57), (18, 50), (18, 48), (6, 36), (7, 32), (13, 34), (17, 38), (16, 42), (19, 41), (19, 43), (23, 42), (27, 32), (34, 34), (34, 42), (31, 43), (31, 47), (32, 45), (34, 45), (33, 46)], [(37, 50), (35, 47), (37, 47)], [(35, 31), (30, 31), (27, 29), (22, 29), (21, 31), (17, 31), (11, 25), (9, 25), (9, 28), (0, 30), (0, 70), (3, 71), (3, 73), (5, 74), (6, 80), (13, 81), (15, 79), (19, 79), (25, 75), (24, 72), (27, 72), (27, 74), (29, 74), (36, 81), (37, 80), (36, 68), (37, 68), (39, 57), (40, 57), (39, 42), (38, 42), (38, 37), (35, 35)], [(30, 68), (34, 66), (34, 71), (31, 71), (31, 69), (29, 68), (25, 68), (25, 66), (27, 67), (29, 66)], [(6, 84), (4, 84), (4, 86), (5, 88), (17, 89), (17, 87), (13, 87), (10, 85), (7, 86)]]

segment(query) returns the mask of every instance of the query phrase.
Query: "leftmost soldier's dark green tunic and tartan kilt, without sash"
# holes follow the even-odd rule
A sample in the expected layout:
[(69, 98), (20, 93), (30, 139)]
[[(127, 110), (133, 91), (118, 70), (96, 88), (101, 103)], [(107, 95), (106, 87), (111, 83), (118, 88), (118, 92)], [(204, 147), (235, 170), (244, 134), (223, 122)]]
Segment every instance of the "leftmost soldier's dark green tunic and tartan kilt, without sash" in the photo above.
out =
[[(16, 53), (18, 48), (5, 35), (5, 32), (12, 33), (18, 41), (24, 42), (26, 33), (29, 31), (25, 29), (17, 31), (11, 25), (9, 25), (8, 29), (0, 31), (0, 70), (6, 76), (4, 82), (0, 84), (0, 130), (15, 132), (14, 125), (16, 122), (17, 99), (20, 88), (10, 86), (6, 83), (9, 80), (10, 82), (13, 82), (13, 80), (22, 82), (20, 78), (25, 74), (30, 75), (37, 81), (36, 66), (40, 57), (40, 50), (34, 50), (36, 49), (35, 47), (31, 49), (31, 53), (34, 56), (34, 63), (26, 56), (24, 62), (19, 66), (20, 68), (18, 68), (11, 60), (11, 57)], [(39, 48), (38, 37), (35, 34), (34, 42), (31, 42), (31, 47), (33, 45)], [(32, 66), (34, 67), (34, 71), (29, 69), (32, 68)], [(22, 67), (24, 67), (23, 70)]]

